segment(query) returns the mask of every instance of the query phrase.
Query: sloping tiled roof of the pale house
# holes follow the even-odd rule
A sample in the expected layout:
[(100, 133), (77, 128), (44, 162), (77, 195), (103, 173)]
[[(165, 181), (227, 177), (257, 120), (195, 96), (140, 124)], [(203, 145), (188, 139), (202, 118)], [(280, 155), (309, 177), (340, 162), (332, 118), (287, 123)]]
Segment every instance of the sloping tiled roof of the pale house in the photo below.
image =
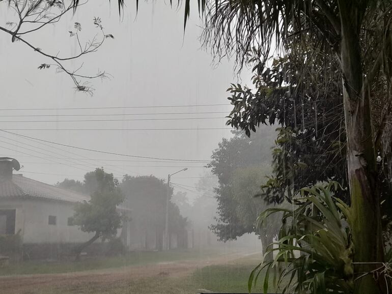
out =
[(10, 181), (0, 182), (0, 198), (21, 196), (67, 202), (81, 202), (90, 199), (90, 196), (25, 178), (21, 174), (14, 174)]

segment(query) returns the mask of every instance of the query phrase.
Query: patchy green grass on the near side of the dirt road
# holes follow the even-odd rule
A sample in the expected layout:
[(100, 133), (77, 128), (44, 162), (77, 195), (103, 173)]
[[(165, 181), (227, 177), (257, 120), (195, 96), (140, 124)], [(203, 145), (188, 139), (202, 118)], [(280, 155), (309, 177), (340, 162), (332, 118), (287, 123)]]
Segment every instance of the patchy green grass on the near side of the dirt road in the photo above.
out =
[[(214, 265), (194, 271), (186, 277), (149, 277), (117, 281), (116, 283), (83, 283), (78, 286), (41, 287), (37, 293), (102, 293), (102, 294), (197, 294), (200, 292), (248, 293), (247, 281), (255, 260), (246, 258), (225, 265)], [(260, 282), (255, 293), (262, 292)], [(270, 292), (275, 292), (270, 287)], [(36, 293), (36, 292), (34, 292)]]

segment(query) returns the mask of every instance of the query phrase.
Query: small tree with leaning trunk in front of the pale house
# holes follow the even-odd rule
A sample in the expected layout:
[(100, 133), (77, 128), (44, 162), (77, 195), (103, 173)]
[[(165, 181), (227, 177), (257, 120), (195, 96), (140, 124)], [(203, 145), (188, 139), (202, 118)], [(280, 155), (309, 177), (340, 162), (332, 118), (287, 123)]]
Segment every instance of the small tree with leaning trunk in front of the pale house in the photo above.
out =
[(95, 234), (89, 241), (76, 248), (76, 260), (79, 259), (80, 253), (85, 248), (99, 238), (105, 240), (115, 237), (123, 219), (118, 211), (118, 205), (124, 201), (124, 196), (118, 187), (118, 182), (113, 178), (113, 174), (104, 172), (102, 168), (97, 168), (85, 175), (85, 182), (87, 179), (88, 183), (90, 181), (94, 183), (91, 188), (91, 199), (76, 204), (73, 223), (80, 226), (83, 232)]

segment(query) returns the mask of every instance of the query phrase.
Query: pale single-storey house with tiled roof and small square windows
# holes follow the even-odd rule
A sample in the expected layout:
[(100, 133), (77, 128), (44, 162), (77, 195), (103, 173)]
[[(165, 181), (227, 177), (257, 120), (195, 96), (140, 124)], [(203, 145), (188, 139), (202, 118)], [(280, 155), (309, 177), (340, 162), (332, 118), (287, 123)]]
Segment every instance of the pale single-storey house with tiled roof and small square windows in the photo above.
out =
[(31, 258), (55, 258), (93, 237), (72, 222), (75, 203), (90, 196), (13, 174), (14, 169), (19, 170), (15, 159), (0, 158), (0, 235), (19, 234)]

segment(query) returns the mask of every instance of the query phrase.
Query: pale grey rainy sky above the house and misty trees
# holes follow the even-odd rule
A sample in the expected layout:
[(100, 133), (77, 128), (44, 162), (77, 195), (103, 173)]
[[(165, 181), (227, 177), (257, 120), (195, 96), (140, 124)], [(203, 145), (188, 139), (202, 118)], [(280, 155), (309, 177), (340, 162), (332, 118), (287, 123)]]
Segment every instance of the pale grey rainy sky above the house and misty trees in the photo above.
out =
[[(64, 178), (82, 180), (86, 172), (101, 166), (119, 178), (127, 173), (162, 179), (187, 167), (172, 181), (190, 190), (199, 177), (211, 177), (203, 166), (222, 137), (231, 135), (224, 118), (231, 110), (226, 89), (239, 80), (233, 62), (216, 64), (201, 48), (197, 8), (191, 7), (184, 34), (183, 8), (166, 2), (142, 1), (136, 15), (133, 1), (128, 1), (119, 17), (115, 1), (94, 0), (75, 15), (25, 36), (45, 52), (73, 55), (78, 52), (76, 39), (69, 34), (74, 23), (81, 24), (83, 44), (99, 33), (93, 17), (100, 17), (105, 34), (114, 39), (106, 39), (97, 52), (66, 63), (70, 69), (82, 65), (80, 74), (110, 74), (110, 79), (91, 82), (93, 95), (75, 91), (70, 77), (53, 67), (37, 69), (50, 60), (0, 32), (0, 129), (8, 132), (0, 131), (1, 155), (16, 158), (25, 177), (48, 184)], [(5, 3), (0, 4), (0, 15), (2, 25), (13, 19)], [(241, 77), (244, 83), (250, 74), (245, 70)], [(72, 122), (61, 122), (66, 120)]]

